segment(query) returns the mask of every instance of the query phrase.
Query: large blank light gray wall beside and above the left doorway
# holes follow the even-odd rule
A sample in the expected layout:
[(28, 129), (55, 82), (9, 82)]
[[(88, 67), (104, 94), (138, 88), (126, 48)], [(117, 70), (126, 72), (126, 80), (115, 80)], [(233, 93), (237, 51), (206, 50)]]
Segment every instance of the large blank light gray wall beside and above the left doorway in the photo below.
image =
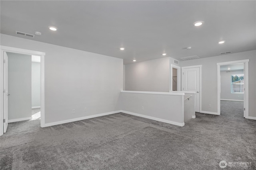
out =
[(4, 34), (0, 43), (46, 53), (45, 123), (116, 110), (123, 88), (123, 59)]

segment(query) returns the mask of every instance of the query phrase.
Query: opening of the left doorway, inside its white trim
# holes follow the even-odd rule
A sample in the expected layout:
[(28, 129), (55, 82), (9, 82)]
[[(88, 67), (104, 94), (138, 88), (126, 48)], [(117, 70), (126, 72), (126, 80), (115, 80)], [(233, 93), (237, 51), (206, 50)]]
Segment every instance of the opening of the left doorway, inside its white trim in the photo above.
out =
[[(8, 123), (40, 119), (40, 56), (6, 52)], [(6, 60), (7, 61), (7, 60)], [(36, 123), (36, 122), (35, 122)], [(37, 121), (40, 125), (40, 120)], [(11, 125), (9, 125), (11, 126)]]

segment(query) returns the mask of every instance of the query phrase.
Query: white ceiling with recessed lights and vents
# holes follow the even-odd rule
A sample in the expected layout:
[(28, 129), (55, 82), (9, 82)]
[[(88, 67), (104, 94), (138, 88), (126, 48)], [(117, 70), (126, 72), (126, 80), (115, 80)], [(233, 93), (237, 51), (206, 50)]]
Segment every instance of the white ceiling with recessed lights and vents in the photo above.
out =
[[(118, 57), (124, 64), (162, 53), (204, 58), (256, 49), (256, 1), (1, 0), (0, 5), (3, 34)], [(201, 20), (203, 25), (193, 25)]]

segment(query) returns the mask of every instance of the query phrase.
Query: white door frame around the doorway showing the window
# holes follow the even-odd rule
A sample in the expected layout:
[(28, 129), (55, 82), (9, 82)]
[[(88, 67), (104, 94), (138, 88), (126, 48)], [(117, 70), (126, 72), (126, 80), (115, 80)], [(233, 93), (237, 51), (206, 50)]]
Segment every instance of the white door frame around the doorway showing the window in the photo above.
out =
[(245, 118), (249, 119), (249, 59), (246, 60), (237, 60), (237, 61), (227, 61), (222, 63), (216, 63), (217, 65), (217, 107), (218, 107), (218, 115), (220, 115), (220, 66), (228, 65), (228, 64), (240, 64), (244, 63), (244, 108), (245, 108)]

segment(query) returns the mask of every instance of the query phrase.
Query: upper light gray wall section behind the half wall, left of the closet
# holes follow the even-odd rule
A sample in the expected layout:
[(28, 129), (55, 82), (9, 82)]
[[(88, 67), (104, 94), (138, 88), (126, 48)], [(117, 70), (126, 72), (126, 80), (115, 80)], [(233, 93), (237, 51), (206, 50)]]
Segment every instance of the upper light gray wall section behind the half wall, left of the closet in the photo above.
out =
[(125, 65), (125, 90), (169, 92), (169, 59), (143, 61)]

